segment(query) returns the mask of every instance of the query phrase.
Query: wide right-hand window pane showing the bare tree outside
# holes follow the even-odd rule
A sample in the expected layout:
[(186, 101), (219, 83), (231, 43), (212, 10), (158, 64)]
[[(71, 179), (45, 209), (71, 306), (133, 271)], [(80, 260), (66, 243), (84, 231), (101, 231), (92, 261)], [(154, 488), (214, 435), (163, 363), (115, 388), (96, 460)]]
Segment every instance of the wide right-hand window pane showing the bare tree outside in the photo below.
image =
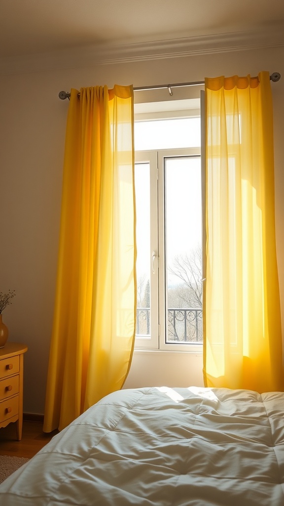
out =
[(200, 157), (165, 158), (166, 342), (202, 343)]

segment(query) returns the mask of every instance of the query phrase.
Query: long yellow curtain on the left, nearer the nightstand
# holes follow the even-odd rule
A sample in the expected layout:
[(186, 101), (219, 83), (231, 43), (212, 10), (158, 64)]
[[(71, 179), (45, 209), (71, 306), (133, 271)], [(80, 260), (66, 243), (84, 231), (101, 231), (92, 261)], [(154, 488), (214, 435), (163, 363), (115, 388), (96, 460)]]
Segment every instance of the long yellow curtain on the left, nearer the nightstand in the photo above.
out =
[(123, 386), (135, 261), (133, 88), (71, 90), (45, 432)]

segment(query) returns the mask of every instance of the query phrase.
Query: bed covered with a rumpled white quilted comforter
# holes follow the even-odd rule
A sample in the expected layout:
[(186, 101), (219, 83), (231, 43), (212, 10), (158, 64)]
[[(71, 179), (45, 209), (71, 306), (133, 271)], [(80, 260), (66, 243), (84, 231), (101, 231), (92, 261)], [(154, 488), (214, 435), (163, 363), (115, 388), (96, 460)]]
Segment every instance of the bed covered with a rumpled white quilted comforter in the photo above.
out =
[(106, 396), (0, 485), (3, 506), (283, 506), (284, 393)]

